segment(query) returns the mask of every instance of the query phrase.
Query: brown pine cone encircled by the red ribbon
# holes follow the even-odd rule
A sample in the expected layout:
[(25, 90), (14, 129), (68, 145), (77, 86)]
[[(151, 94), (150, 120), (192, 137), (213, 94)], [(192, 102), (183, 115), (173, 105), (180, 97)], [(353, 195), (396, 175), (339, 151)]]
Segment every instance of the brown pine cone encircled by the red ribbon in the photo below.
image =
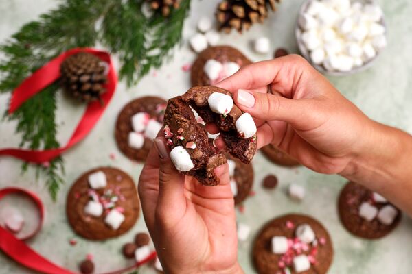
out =
[(91, 53), (77, 53), (66, 58), (60, 65), (62, 86), (82, 101), (100, 100), (106, 92), (106, 66)]

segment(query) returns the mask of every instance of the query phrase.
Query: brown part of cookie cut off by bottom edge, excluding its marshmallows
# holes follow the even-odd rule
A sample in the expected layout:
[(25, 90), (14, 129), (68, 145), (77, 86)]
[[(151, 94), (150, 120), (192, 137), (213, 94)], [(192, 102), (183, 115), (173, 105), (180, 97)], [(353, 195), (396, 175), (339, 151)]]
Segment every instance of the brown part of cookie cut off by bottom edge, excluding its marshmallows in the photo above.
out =
[[(306, 242), (297, 237), (299, 225), (309, 225), (314, 232), (314, 240)], [(284, 253), (273, 253), (272, 238), (286, 237)], [(308, 235), (304, 235), (307, 238)], [(310, 236), (310, 234), (309, 234)], [(282, 241), (281, 241), (282, 242)], [(276, 249), (282, 249), (279, 245)], [(277, 250), (278, 251), (278, 250)], [(309, 269), (297, 272), (295, 258), (304, 255), (309, 261)], [(255, 239), (253, 246), (253, 263), (260, 274), (290, 273), (324, 274), (328, 271), (333, 258), (332, 240), (325, 227), (309, 216), (289, 214), (269, 221), (264, 225)], [(301, 264), (299, 264), (301, 265)], [(284, 271), (284, 272), (281, 272)]]

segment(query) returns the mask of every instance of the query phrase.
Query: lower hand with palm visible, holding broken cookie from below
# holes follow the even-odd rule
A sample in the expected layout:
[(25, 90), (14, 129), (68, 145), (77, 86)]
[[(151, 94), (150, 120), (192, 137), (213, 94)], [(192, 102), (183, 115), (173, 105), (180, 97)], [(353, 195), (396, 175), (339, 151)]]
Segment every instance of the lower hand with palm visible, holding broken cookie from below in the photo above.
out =
[(165, 138), (155, 139), (139, 178), (146, 225), (166, 273), (242, 273), (229, 166), (203, 186), (170, 161)]

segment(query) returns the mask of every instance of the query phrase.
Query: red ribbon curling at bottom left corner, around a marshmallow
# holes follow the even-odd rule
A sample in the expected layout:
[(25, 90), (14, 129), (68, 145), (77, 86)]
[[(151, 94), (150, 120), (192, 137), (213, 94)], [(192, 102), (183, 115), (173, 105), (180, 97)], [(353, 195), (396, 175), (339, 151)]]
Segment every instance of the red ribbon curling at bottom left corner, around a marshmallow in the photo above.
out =
[[(19, 262), (20, 264), (23, 264), (23, 266), (26, 266), (29, 269), (33, 269), (35, 271), (47, 274), (75, 274), (76, 272), (64, 269), (61, 266), (58, 266), (57, 264), (50, 262), (49, 260), (47, 260), (47, 258), (36, 253), (36, 251), (34, 251), (32, 248), (25, 244), (24, 240), (32, 238), (38, 232), (40, 232), (45, 215), (44, 206), (41, 202), (41, 199), (38, 198), (38, 196), (34, 194), (34, 192), (24, 190), (23, 188), (3, 188), (0, 190), (0, 199), (12, 193), (25, 195), (32, 199), (38, 209), (40, 221), (34, 232), (32, 232), (28, 236), (25, 236), (25, 238), (23, 239), (16, 238), (16, 236), (14, 236), (12, 233), (8, 232), (8, 230), (0, 226), (0, 249), (2, 249), (4, 253), (10, 256), (10, 258), (15, 260), (16, 262)], [(146, 264), (147, 262), (155, 260), (155, 258), (156, 252), (152, 252), (145, 260), (137, 262), (133, 266), (129, 266), (125, 269), (119, 269), (117, 271), (104, 274), (119, 274), (124, 273), (125, 271), (131, 271), (141, 266), (142, 264)]]

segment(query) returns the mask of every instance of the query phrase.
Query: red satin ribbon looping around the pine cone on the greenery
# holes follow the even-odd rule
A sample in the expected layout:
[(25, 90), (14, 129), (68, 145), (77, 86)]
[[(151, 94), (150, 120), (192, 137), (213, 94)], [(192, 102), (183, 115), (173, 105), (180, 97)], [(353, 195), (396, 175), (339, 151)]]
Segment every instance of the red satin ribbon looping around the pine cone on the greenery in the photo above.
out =
[(41, 67), (41, 69), (35, 71), (14, 90), (12, 98), (10, 100), (9, 114), (13, 113), (17, 108), (19, 108), (22, 103), (27, 101), (27, 99), (30, 99), (30, 97), (36, 95), (36, 93), (41, 92), (41, 90), (54, 83), (60, 77), (60, 64), (70, 55), (79, 52), (92, 53), (98, 56), (98, 58), (100, 58), (102, 61), (107, 62), (109, 65), (109, 71), (107, 75), (108, 82), (105, 86), (106, 92), (104, 92), (104, 94), (102, 95), (102, 101), (104, 105), (101, 105), (98, 101), (89, 103), (86, 111), (82, 116), (82, 119), (76, 127), (76, 130), (73, 132), (73, 135), (64, 147), (60, 147), (58, 149), (47, 149), (43, 151), (34, 151), (27, 149), (1, 149), (0, 155), (10, 155), (15, 158), (25, 160), (26, 162), (49, 162), (70, 147), (73, 147), (73, 145), (76, 145), (76, 143), (78, 143), (80, 140), (86, 137), (87, 134), (89, 134), (90, 130), (93, 128), (95, 123), (98, 122), (100, 116), (106, 109), (108, 102), (113, 97), (117, 84), (117, 75), (111, 62), (110, 55), (105, 51), (98, 51), (97, 49), (89, 48), (78, 48), (66, 51), (65, 53), (59, 55), (57, 58), (54, 58), (52, 61), (45, 64), (45, 66)]

